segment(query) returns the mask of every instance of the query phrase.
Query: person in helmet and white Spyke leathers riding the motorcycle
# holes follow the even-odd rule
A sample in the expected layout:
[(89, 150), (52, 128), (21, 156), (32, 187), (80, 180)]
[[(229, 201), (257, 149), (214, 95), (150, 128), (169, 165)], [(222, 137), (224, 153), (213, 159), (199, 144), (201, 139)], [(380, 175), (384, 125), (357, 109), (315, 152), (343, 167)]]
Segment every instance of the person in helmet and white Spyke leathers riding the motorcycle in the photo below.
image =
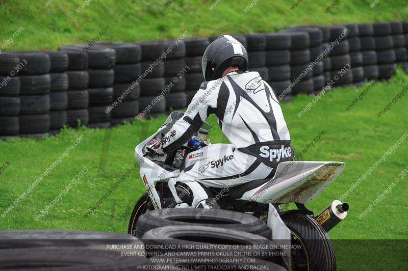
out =
[[(169, 180), (176, 203), (193, 208), (219, 208), (208, 187), (226, 188), (252, 180), (272, 178), (279, 162), (292, 161), (294, 150), (281, 106), (272, 88), (258, 72), (247, 72), (244, 46), (223, 35), (202, 57), (206, 79), (166, 136), (153, 139), (146, 151), (171, 153), (187, 143), (210, 114), (215, 114), (232, 144), (207, 146), (205, 159), (185, 168)], [(202, 155), (202, 149), (192, 152)], [(248, 200), (248, 199), (246, 199)]]

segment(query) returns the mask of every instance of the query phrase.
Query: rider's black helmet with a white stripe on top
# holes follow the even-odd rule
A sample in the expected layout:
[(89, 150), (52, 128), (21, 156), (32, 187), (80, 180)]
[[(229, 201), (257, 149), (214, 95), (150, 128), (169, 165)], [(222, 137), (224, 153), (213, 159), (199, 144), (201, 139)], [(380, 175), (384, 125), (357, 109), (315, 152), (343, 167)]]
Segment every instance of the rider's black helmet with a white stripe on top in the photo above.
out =
[(248, 53), (245, 47), (230, 35), (219, 36), (208, 45), (201, 60), (202, 74), (206, 81), (222, 77), (224, 70), (238, 66), (240, 70), (248, 69)]

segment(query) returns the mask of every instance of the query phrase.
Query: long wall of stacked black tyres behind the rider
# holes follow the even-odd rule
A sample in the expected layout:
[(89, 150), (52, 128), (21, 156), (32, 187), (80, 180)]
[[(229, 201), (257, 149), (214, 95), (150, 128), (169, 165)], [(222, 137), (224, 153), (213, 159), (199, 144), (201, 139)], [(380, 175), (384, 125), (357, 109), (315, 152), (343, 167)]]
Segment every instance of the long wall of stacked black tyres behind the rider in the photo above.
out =
[[(277, 33), (229, 35), (247, 49), (249, 71), (258, 71), (283, 101), (389, 79), (396, 65), (408, 70), (407, 21), (291, 25)], [(204, 82), (201, 58), (216, 38), (3, 52), (0, 138), (43, 137), (64, 125), (109, 127), (185, 109)]]

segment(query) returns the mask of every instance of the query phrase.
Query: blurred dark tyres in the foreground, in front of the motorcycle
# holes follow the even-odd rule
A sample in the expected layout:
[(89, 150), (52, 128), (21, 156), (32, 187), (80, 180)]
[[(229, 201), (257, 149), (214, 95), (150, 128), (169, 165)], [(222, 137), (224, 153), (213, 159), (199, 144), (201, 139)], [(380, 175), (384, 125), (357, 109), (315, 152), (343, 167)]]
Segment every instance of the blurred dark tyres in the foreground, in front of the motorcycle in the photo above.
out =
[[(284, 248), (271, 240), (271, 229), (252, 215), (228, 210), (203, 213), (200, 209), (188, 208), (147, 213), (140, 215), (141, 223), (137, 221), (137, 237), (134, 234), (82, 230), (0, 231), (0, 269), (290, 269)], [(180, 222), (172, 220), (175, 216), (180, 217), (177, 219)], [(205, 242), (200, 240), (203, 237)], [(324, 240), (328, 241), (328, 237)], [(324, 251), (326, 249), (333, 250), (330, 243)], [(324, 256), (318, 254), (316, 258), (328, 258)], [(325, 260), (318, 263), (327, 265)], [(321, 266), (313, 268), (324, 269)]]

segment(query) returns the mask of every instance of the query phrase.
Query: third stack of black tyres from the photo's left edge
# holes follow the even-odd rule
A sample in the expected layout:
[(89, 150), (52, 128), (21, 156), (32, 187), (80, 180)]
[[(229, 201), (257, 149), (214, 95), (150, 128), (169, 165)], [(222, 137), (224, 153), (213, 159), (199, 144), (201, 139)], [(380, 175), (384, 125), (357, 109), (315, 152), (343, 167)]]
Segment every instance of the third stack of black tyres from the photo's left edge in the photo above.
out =
[(68, 55), (60, 51), (41, 51), (49, 56), (51, 61), (49, 76), (49, 133), (56, 134), (67, 123), (66, 104), (68, 102)]

